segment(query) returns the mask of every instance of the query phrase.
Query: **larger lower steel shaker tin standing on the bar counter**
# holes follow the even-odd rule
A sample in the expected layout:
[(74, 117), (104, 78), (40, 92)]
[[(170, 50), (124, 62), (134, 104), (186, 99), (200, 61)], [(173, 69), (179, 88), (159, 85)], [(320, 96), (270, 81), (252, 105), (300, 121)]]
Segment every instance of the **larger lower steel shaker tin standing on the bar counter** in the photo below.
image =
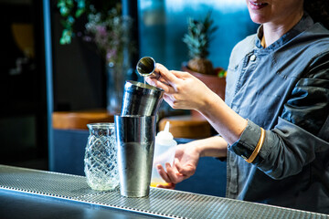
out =
[(120, 192), (149, 194), (154, 159), (155, 116), (115, 116)]

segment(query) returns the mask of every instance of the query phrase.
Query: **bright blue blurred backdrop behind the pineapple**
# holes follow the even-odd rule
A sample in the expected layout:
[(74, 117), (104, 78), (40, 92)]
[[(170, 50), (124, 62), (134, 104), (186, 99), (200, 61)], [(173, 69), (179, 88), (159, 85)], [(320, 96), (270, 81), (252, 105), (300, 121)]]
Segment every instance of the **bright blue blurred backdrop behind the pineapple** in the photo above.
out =
[(245, 0), (141, 0), (138, 1), (140, 55), (152, 54), (167, 68), (180, 69), (188, 59), (182, 38), (187, 18), (202, 19), (212, 12), (218, 30), (209, 47), (215, 67), (227, 68), (231, 49), (257, 26), (250, 21)]

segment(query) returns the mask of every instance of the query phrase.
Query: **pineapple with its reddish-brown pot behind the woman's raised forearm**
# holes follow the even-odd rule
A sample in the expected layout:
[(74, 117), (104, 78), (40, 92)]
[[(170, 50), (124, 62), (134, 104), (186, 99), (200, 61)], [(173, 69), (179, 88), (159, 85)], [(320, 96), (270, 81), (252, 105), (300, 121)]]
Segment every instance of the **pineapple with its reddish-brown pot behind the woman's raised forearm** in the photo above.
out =
[[(183, 41), (188, 48), (190, 59), (188, 62), (183, 63), (182, 70), (200, 79), (220, 98), (225, 99), (227, 71), (223, 68), (214, 68), (212, 62), (207, 59), (212, 35), (218, 29), (218, 26), (214, 26), (211, 12), (208, 12), (203, 20), (195, 20), (189, 17), (187, 22), (188, 29)], [(199, 117), (199, 114), (194, 110), (192, 115)]]

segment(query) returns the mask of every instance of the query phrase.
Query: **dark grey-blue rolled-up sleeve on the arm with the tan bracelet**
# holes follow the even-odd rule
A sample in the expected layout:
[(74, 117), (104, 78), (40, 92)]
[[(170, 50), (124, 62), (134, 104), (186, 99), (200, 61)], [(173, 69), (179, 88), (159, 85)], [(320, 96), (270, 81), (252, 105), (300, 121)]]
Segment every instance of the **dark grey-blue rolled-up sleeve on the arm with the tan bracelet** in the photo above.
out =
[[(283, 179), (302, 171), (317, 152), (329, 150), (329, 55), (317, 57), (301, 78), (254, 162), (273, 179)], [(260, 126), (248, 121), (239, 141), (228, 150), (249, 158), (260, 140)]]

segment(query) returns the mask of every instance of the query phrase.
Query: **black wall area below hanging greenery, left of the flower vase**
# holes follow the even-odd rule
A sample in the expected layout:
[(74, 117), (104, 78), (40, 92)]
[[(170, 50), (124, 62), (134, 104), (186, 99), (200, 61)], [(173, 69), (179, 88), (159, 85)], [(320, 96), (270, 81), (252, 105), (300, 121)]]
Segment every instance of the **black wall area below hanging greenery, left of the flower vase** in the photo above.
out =
[[(52, 44), (54, 77), (54, 110), (89, 110), (105, 108), (104, 64), (94, 45), (81, 37), (71, 44), (60, 45), (61, 16), (52, 2)], [(83, 31), (85, 19), (79, 19), (77, 31)]]

